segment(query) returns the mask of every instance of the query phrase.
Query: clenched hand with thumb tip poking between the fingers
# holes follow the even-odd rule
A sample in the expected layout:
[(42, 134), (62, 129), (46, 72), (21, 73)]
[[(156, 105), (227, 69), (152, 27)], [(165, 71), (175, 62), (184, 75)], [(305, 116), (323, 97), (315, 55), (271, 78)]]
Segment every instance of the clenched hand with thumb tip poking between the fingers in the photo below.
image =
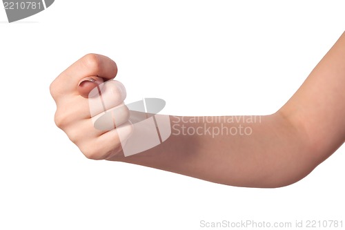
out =
[[(50, 93), (57, 104), (55, 124), (90, 159), (106, 160), (118, 155), (122, 149), (119, 132), (122, 142), (132, 133), (129, 111), (123, 103), (126, 89), (120, 82), (108, 81), (116, 75), (117, 66), (112, 59), (89, 54), (63, 71), (50, 85)], [(108, 82), (103, 84), (103, 80)], [(88, 96), (95, 87), (102, 88), (101, 97), (106, 103), (90, 112)], [(92, 99), (94, 97), (99, 95), (92, 95)], [(113, 111), (113, 116), (116, 113), (116, 126), (100, 130), (94, 123), (104, 109)]]

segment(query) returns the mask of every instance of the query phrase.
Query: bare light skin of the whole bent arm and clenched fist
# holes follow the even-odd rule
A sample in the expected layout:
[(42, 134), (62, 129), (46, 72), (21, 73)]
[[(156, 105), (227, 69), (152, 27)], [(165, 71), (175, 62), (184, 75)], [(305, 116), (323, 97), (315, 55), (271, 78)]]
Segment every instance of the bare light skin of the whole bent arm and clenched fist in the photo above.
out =
[[(128, 113), (124, 112), (126, 119), (121, 126), (98, 131), (86, 98), (92, 88), (116, 74), (114, 61), (89, 54), (50, 85), (57, 104), (55, 123), (90, 159), (139, 164), (232, 186), (279, 187), (304, 178), (345, 141), (345, 33), (276, 113), (257, 117), (260, 122), (228, 116), (238, 121), (207, 123), (211, 128), (249, 127), (250, 135), (175, 132), (166, 142), (129, 157), (121, 151), (117, 132), (127, 125), (130, 133)], [(114, 87), (110, 91), (109, 108), (118, 106), (126, 97), (124, 90)], [(170, 116), (170, 122), (175, 128), (183, 125), (194, 129), (206, 123), (201, 117), (199, 122), (186, 122), (192, 118)]]

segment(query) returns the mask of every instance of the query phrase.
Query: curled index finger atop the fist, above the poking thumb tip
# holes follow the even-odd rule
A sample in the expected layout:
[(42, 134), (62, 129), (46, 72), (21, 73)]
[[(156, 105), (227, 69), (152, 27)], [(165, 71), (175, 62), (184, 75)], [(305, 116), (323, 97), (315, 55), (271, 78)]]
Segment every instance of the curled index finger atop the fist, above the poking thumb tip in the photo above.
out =
[(101, 77), (106, 82), (117, 75), (117, 65), (109, 57), (88, 54), (68, 67), (55, 79), (59, 93), (78, 93), (78, 85), (85, 77)]

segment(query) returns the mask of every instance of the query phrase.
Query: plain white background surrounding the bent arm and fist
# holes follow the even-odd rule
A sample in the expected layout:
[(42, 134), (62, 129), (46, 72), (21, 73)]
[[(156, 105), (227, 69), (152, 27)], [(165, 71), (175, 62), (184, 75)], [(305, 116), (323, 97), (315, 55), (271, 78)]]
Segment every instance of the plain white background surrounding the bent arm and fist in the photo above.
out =
[[(343, 220), (345, 148), (281, 189), (88, 160), (54, 124), (49, 85), (88, 52), (126, 102), (172, 115), (274, 113), (344, 32), (344, 1), (67, 1), (0, 9), (0, 229), (203, 229), (200, 220)], [(204, 228), (205, 229), (205, 228)]]

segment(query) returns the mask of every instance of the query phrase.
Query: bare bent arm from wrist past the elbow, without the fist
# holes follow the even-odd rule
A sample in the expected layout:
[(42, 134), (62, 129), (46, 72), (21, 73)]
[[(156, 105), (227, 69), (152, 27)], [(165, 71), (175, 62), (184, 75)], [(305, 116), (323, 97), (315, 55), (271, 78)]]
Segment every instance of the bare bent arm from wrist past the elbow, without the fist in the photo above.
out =
[[(236, 118), (239, 122), (233, 122)], [(227, 129), (214, 138), (172, 135), (146, 153), (114, 160), (236, 186), (284, 186), (304, 178), (345, 140), (345, 34), (277, 113), (256, 118), (214, 117), (188, 124), (171, 117), (180, 129), (193, 131), (204, 123)], [(240, 135), (239, 126), (249, 127), (251, 134)]]

